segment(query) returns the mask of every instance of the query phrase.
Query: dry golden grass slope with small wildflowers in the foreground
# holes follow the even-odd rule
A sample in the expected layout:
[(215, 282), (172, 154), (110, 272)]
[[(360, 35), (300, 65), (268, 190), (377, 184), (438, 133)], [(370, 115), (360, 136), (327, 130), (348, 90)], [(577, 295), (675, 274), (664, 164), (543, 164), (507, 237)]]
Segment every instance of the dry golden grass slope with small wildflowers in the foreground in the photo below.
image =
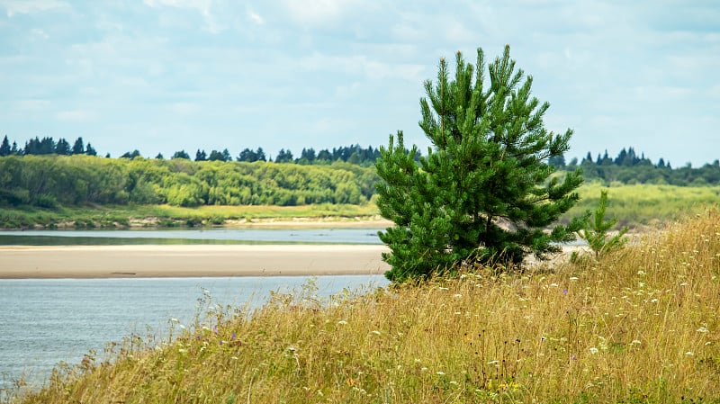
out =
[(30, 403), (718, 403), (720, 211), (574, 264), (312, 283), (56, 371)]

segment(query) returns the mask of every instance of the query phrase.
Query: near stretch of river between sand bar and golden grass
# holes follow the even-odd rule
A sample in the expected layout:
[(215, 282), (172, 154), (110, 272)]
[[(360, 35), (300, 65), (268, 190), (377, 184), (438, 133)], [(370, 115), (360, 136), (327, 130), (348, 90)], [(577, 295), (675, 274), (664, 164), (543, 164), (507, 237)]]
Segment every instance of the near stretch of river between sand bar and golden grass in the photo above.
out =
[[(384, 286), (380, 275), (320, 276), (320, 295)], [(168, 320), (191, 324), (205, 289), (221, 305), (266, 301), (291, 292), (304, 277), (0, 280), (0, 388), (23, 373), (34, 385), (64, 361), (78, 364), (90, 349), (135, 333), (166, 335)], [(2, 391), (0, 391), (2, 399)]]

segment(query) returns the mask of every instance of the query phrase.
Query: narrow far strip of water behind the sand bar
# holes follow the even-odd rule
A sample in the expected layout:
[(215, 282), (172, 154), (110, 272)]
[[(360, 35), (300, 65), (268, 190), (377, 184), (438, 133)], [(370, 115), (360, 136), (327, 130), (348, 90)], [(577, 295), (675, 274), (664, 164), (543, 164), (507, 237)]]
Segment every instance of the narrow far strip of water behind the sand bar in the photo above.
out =
[(6, 230), (0, 231), (0, 245), (382, 244), (378, 230), (381, 229)]

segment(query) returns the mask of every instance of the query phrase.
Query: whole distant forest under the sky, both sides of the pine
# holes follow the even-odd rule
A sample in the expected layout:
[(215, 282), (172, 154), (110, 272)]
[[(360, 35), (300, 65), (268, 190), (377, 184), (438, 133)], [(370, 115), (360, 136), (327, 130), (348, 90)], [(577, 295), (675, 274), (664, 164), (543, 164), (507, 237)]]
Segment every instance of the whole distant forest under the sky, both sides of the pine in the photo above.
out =
[[(245, 148), (234, 159), (228, 149), (198, 149), (191, 158), (184, 150), (166, 159), (140, 156), (138, 150), (119, 158), (98, 157), (82, 138), (34, 138), (23, 148), (0, 143), (0, 205), (38, 206), (85, 204), (304, 205), (311, 203), (370, 202), (378, 177), (377, 148), (358, 145), (316, 152), (303, 148), (299, 157), (281, 150), (271, 161), (262, 148)], [(419, 156), (416, 156), (419, 157)], [(624, 148), (617, 157), (580, 162), (554, 158), (548, 164), (559, 171), (582, 169), (587, 182), (620, 184), (720, 184), (720, 162), (693, 168), (673, 168)]]

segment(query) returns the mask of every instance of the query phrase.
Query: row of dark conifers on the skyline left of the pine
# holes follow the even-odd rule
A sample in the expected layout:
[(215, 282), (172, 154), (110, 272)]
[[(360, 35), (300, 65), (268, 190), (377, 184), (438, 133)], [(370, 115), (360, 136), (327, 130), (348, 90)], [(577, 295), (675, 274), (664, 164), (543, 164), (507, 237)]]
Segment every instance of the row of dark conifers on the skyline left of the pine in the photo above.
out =
[[(44, 137), (42, 139), (35, 137), (25, 142), (24, 148), (17, 145), (17, 142), (10, 143), (10, 139), (7, 135), (4, 136), (2, 143), (0, 143), (0, 157), (5, 156), (28, 156), (28, 155), (49, 155), (56, 154), (59, 156), (73, 156), (73, 155), (88, 155), (97, 156), (97, 151), (93, 148), (90, 143), (85, 146), (83, 138), (77, 138), (72, 146), (67, 139), (60, 138), (56, 142), (52, 137)], [(350, 164), (356, 164), (360, 166), (372, 166), (380, 156), (380, 150), (368, 146), (363, 148), (360, 145), (342, 146), (339, 148), (323, 148), (316, 151), (315, 148), (302, 148), (300, 156), (294, 157), (293, 152), (290, 149), (282, 148), (278, 152), (275, 160), (272, 157), (268, 157), (263, 148), (257, 148), (255, 150), (251, 148), (244, 148), (235, 157), (235, 161), (243, 161), (247, 163), (253, 163), (256, 161), (266, 161), (275, 163), (296, 163), (296, 164), (330, 164), (335, 161), (347, 162)], [(110, 154), (106, 154), (105, 157), (111, 157)], [(135, 158), (142, 157), (138, 149), (123, 153), (121, 158)], [(155, 157), (158, 160), (165, 159), (162, 153), (158, 153)], [(194, 158), (191, 157), (184, 149), (175, 151), (170, 157), (184, 158), (186, 160), (193, 159), (194, 161), (233, 161), (233, 157), (227, 148), (223, 150), (212, 149), (210, 153), (207, 153), (204, 149), (198, 148), (194, 154)]]

